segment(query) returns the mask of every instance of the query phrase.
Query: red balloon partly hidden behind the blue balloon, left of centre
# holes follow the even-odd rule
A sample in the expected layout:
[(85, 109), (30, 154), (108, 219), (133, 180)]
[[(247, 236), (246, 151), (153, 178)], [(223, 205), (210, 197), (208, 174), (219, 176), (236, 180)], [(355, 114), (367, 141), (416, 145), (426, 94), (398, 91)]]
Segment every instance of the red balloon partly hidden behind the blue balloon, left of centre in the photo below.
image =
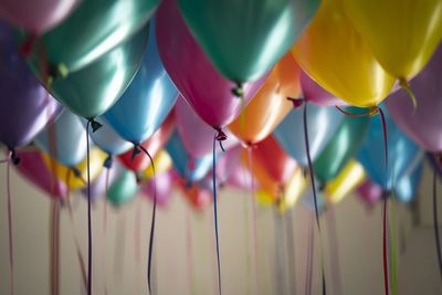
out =
[[(144, 141), (141, 146), (149, 151), (151, 157), (155, 157), (169, 140), (172, 131), (173, 116), (169, 116), (161, 127), (149, 139)], [(134, 150), (128, 150), (125, 154), (119, 155), (118, 159), (127, 169), (136, 173), (141, 172), (150, 165), (150, 159), (146, 154), (139, 152), (134, 157)]]

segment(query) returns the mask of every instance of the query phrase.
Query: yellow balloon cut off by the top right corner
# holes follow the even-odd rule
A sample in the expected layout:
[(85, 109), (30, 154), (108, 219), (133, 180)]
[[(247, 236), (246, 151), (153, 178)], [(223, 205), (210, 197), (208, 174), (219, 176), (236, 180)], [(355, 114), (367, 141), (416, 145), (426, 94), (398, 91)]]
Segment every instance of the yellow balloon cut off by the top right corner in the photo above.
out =
[(343, 3), (382, 67), (402, 81), (423, 69), (441, 41), (440, 0), (344, 0)]

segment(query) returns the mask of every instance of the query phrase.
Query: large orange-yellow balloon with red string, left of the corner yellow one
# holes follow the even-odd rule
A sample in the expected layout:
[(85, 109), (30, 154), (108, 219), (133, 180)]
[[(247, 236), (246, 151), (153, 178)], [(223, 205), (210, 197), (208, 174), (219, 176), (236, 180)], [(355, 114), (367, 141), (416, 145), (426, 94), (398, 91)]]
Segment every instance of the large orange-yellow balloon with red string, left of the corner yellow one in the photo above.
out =
[(351, 25), (340, 0), (323, 0), (292, 53), (320, 86), (350, 105), (375, 106), (394, 83)]

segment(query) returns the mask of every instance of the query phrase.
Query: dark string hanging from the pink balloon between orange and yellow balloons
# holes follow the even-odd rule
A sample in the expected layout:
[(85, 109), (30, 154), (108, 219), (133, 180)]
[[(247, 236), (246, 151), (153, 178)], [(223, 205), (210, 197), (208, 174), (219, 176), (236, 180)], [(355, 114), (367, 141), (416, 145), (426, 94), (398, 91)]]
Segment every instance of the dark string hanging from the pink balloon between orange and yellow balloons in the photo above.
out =
[[(315, 202), (316, 224), (318, 228), (319, 240), (320, 240), (322, 233), (320, 233), (319, 211), (318, 211), (318, 206), (317, 206), (316, 186), (315, 186), (315, 177), (314, 177), (314, 170), (313, 170), (313, 164), (312, 164), (312, 157), (311, 157), (311, 147), (309, 147), (309, 143), (308, 143), (307, 104), (304, 104), (304, 141), (305, 141), (305, 150), (306, 150), (307, 160), (308, 160), (308, 170), (309, 170), (311, 182), (312, 182), (313, 198), (314, 198), (314, 202)], [(323, 294), (325, 295), (325, 294), (327, 294), (327, 286), (326, 286), (326, 281), (325, 281), (324, 253), (323, 252), (324, 252), (323, 246), (320, 246), (320, 265), (322, 265), (320, 272), (322, 272)]]

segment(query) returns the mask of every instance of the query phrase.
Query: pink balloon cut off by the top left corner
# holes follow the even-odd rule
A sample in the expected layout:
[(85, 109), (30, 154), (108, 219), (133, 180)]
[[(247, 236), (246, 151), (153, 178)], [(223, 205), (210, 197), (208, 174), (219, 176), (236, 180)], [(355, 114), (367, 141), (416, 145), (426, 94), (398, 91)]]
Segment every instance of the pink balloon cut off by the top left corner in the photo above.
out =
[(33, 34), (63, 21), (80, 0), (0, 0), (0, 17)]

